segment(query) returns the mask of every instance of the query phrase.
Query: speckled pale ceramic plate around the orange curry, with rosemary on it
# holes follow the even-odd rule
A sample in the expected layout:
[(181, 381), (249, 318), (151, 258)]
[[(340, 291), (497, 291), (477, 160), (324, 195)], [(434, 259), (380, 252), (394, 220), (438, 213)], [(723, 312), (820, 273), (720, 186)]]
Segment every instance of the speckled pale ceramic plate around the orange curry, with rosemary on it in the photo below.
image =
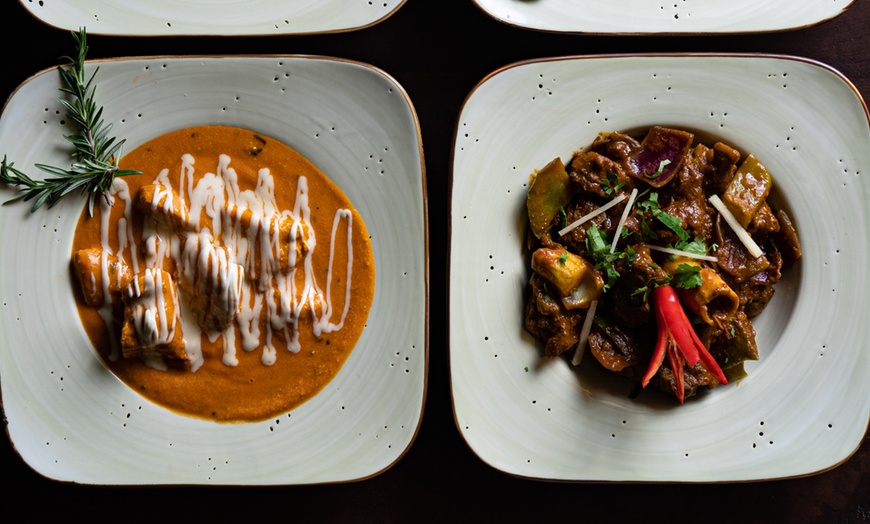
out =
[[(418, 430), (428, 362), (428, 262), (420, 129), (404, 90), (330, 58), (155, 57), (99, 66), (97, 101), (137, 145), (201, 124), (247, 127), (314, 162), (372, 236), (367, 327), (338, 375), (291, 412), (217, 424), (158, 407), (101, 365), (76, 311), (69, 260), (83, 201), (0, 207), (0, 387), (9, 437), (42, 475), (86, 484), (313, 484), (367, 478)], [(69, 164), (56, 70), (27, 80), (0, 117), (0, 152), (29, 169)], [(0, 188), (0, 199), (14, 196)], [(397, 228), (396, 224), (402, 224)]]

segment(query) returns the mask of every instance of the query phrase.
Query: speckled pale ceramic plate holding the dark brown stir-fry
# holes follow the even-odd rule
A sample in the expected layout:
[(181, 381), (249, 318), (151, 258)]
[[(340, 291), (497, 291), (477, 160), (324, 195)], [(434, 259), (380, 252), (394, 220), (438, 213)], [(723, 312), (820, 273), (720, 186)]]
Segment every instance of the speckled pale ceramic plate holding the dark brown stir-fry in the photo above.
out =
[[(748, 377), (679, 406), (546, 361), (523, 329), (529, 175), (599, 131), (697, 130), (755, 153), (803, 259), (754, 321)], [(604, 56), (518, 63), (469, 95), (453, 150), (450, 371), (456, 424), (494, 468), (566, 481), (718, 482), (845, 461), (870, 419), (870, 125), (845, 78), (800, 58)]]

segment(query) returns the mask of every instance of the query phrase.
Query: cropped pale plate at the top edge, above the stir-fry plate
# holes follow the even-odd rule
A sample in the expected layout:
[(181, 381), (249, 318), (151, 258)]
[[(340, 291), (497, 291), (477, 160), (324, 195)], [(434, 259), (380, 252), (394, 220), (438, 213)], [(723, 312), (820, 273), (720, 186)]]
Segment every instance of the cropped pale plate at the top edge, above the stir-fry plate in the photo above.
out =
[(855, 0), (474, 0), (509, 25), (558, 33), (758, 33), (815, 25)]

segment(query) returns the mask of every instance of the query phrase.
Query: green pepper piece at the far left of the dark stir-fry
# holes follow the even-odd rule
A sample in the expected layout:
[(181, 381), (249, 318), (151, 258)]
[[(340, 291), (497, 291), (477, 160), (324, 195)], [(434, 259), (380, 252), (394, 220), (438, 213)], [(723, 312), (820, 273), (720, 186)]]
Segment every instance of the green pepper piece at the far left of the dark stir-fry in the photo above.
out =
[(541, 235), (547, 232), (553, 219), (570, 199), (571, 192), (568, 191), (568, 173), (565, 171), (565, 164), (561, 159), (554, 158), (538, 171), (526, 195), (529, 224), (536, 238), (541, 238)]

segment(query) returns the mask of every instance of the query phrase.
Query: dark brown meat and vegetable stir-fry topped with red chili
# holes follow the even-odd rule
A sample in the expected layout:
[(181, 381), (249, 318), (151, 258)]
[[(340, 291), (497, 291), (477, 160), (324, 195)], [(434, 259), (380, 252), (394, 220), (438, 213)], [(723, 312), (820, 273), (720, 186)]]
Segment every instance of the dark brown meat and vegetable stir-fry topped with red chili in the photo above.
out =
[(527, 195), (525, 329), (680, 402), (744, 377), (751, 320), (801, 257), (772, 186), (754, 155), (660, 126), (553, 160)]

